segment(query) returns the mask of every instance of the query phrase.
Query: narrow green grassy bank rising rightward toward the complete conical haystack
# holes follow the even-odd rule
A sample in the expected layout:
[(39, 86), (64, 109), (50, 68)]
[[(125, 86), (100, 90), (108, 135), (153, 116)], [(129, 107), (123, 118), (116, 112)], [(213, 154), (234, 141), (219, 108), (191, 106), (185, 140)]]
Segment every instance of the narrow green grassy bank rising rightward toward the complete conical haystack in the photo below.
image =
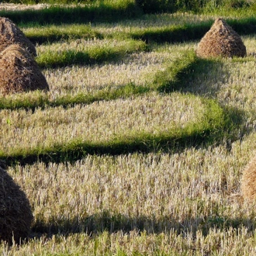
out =
[(31, 95), (18, 96), (17, 99), (5, 97), (0, 100), (0, 109), (36, 109), (47, 106), (74, 106), (76, 104), (91, 104), (101, 100), (114, 100), (128, 98), (132, 95), (142, 95), (150, 91), (172, 92), (180, 89), (182, 81), (199, 61), (193, 50), (186, 51), (178, 60), (166, 64), (164, 71), (157, 72), (151, 85), (139, 86), (129, 83), (119, 88), (102, 89), (95, 94), (65, 95), (60, 98), (49, 100), (48, 95), (38, 92), (34, 98)]

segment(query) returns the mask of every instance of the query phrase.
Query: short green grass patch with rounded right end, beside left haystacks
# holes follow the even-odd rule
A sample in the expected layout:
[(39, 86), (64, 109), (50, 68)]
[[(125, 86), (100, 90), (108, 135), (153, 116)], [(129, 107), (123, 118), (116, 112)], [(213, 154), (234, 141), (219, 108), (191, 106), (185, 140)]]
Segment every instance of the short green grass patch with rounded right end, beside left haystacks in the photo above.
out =
[[(78, 40), (70, 44), (57, 44), (54, 50), (41, 50), (36, 57), (40, 67), (65, 67), (68, 65), (102, 64), (103, 62), (117, 61), (126, 54), (147, 50), (147, 45), (139, 40)], [(59, 50), (56, 50), (59, 48)], [(62, 50), (64, 49), (64, 50)], [(80, 50), (81, 49), (81, 50)]]

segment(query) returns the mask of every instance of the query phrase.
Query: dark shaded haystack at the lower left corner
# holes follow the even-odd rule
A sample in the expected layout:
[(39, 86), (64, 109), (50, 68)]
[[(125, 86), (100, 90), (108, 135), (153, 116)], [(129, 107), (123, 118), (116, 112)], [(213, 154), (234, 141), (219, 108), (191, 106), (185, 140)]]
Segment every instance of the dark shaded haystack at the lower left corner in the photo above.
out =
[(33, 214), (29, 200), (11, 176), (0, 168), (0, 240), (12, 243), (26, 238)]

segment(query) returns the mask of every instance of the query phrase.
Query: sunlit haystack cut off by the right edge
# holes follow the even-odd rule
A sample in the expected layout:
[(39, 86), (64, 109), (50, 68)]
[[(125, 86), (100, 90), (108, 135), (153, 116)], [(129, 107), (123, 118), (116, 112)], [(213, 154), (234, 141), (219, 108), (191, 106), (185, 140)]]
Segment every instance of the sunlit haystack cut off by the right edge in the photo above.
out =
[(256, 199), (256, 157), (244, 168), (240, 189), (244, 199), (248, 201)]

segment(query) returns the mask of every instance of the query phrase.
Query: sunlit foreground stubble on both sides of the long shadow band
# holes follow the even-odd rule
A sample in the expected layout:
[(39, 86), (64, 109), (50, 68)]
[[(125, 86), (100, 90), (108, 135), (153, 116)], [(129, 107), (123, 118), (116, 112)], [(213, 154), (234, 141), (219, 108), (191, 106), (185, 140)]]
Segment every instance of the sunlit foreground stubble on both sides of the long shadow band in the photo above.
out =
[[(70, 254), (125, 251), (128, 255), (137, 250), (148, 254), (157, 250), (166, 254), (184, 251), (192, 254), (194, 250), (250, 253), (254, 250), (249, 231), (254, 206), (240, 204), (239, 197), (234, 195), (239, 193), (240, 171), (251, 150), (256, 149), (256, 144), (251, 143), (254, 138), (248, 137), (242, 144), (234, 143), (230, 153), (221, 146), (188, 149), (182, 154), (88, 156), (74, 165), (38, 163), (9, 168), (10, 175), (33, 202), (37, 223), (43, 223), (46, 229), (53, 223), (63, 229), (68, 223), (77, 225), (78, 221), (81, 229), (80, 234), (70, 234), (65, 239), (61, 235), (41, 237), (19, 251), (15, 247), (11, 251), (19, 255), (42, 250)], [(92, 220), (99, 229), (106, 225), (100, 217), (103, 218), (104, 211), (112, 216), (120, 214), (127, 222), (127, 233), (119, 230), (94, 238), (84, 234), (85, 220)], [(216, 221), (217, 225), (217, 221), (225, 218), (241, 222), (244, 218), (245, 223), (238, 231), (232, 224), (223, 230), (211, 224)], [(203, 220), (206, 234), (199, 227)], [(118, 230), (118, 220), (109, 221), (112, 224), (107, 227)], [(154, 233), (138, 233), (135, 229), (138, 225)], [(98, 247), (94, 246), (95, 240), (99, 241)], [(231, 249), (227, 240), (234, 244)]]

